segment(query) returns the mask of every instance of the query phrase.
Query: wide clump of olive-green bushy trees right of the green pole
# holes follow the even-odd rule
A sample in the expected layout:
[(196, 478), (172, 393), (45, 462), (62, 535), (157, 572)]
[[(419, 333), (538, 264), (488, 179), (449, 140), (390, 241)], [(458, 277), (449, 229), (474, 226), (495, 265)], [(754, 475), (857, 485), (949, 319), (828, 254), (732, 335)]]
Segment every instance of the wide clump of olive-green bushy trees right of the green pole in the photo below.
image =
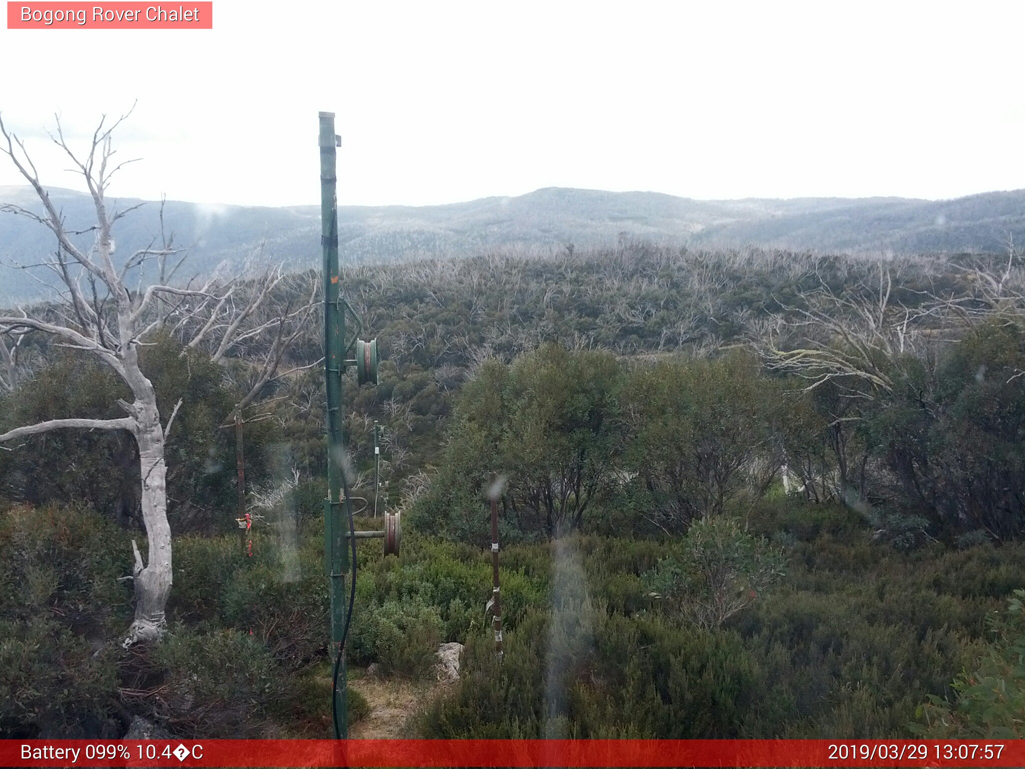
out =
[(557, 346), (511, 366), (488, 361), (463, 388), (438, 481), (412, 522), (485, 543), (483, 487), (497, 470), (502, 541), (577, 529), (585, 513), (591, 530), (686, 531), (765, 494), (787, 436), (806, 427), (802, 408), (741, 353), (632, 371)]

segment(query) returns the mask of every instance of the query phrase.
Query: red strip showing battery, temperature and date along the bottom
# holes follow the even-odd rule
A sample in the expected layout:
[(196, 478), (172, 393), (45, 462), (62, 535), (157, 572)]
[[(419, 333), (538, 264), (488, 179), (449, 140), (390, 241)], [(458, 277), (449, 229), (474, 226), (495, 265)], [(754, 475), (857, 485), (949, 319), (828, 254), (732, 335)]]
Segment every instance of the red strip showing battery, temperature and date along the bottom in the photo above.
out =
[(0, 740), (5, 767), (1021, 767), (1025, 740)]

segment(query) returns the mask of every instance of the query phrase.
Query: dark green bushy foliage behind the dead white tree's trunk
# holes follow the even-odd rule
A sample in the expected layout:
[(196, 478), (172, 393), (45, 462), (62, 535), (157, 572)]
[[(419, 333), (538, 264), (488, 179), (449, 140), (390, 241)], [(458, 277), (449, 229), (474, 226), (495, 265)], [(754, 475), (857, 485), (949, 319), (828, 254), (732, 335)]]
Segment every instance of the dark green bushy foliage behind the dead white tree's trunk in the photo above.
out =
[[(164, 420), (181, 399), (165, 449), (168, 519), (174, 533), (223, 531), (234, 526), (235, 434), (221, 430), (239, 395), (223, 383), (220, 366), (162, 336), (140, 353)], [(71, 386), (70, 386), (71, 383)], [(56, 355), (16, 393), (0, 402), (0, 431), (46, 419), (114, 418), (127, 398), (108, 367), (82, 355)], [(266, 474), (266, 422), (246, 427), (246, 474)], [(0, 452), (0, 495), (32, 504), (88, 504), (122, 525), (141, 528), (138, 451), (122, 432), (60, 430), (32, 436)]]

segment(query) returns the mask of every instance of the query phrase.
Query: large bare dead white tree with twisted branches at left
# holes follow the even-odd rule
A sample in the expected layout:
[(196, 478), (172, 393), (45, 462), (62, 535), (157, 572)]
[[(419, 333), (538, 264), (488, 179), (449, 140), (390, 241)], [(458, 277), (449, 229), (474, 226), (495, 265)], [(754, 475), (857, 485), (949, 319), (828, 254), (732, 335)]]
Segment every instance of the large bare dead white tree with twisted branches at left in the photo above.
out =
[[(38, 306), (31, 309), (31, 313), (22, 310), (18, 314), (0, 315), (0, 338), (6, 335), (13, 339), (13, 347), (16, 349), (27, 334), (47, 334), (55, 347), (80, 351), (101, 361), (118, 374), (131, 394), (130, 400), (118, 400), (118, 405), (125, 412), (125, 416), (120, 418), (71, 417), (26, 424), (0, 435), (0, 444), (74, 428), (90, 431), (123, 430), (133, 437), (138, 448), (140, 508), (149, 552), (144, 561), (136, 542), (132, 540), (134, 568), (131, 578), (134, 580), (135, 615), (122, 642), (126, 648), (159, 639), (166, 628), (164, 608), (171, 590), (172, 568), (164, 447), (181, 405), (179, 400), (166, 421), (163, 421), (163, 415), (157, 407), (154, 386), (139, 367), (140, 346), (146, 343), (148, 337), (164, 328), (168, 319), (175, 317), (187, 303), (192, 307), (187, 314), (194, 317), (199, 317), (201, 311), (198, 312), (198, 308), (218, 309), (218, 313), (209, 314), (187, 342), (195, 347), (214, 327), (222, 325), (215, 356), (223, 356), (244, 334), (253, 337), (277, 328), (276, 340), (271, 345), (270, 358), (273, 365), (266, 365), (261, 370), (259, 387), (254, 387), (254, 392), (247, 396), (251, 401), (259, 388), (274, 375), (277, 363), (281, 360), (282, 348), (287, 347), (290, 337), (290, 334), (285, 335), (281, 330), (282, 323), (276, 324), (274, 321), (258, 324), (258, 328), (245, 327), (245, 330), (240, 330), (243, 329), (246, 318), (253, 316), (263, 303), (270, 288), (251, 292), (243, 305), (233, 308), (232, 317), (227, 317), (220, 311), (232, 302), (233, 286), (237, 285), (237, 281), (231, 282), (228, 290), (213, 279), (199, 287), (193, 287), (192, 282), (184, 287), (154, 283), (145, 289), (141, 286), (135, 290), (129, 289), (127, 281), (133, 270), (151, 259), (159, 259), (160, 273), (167, 276), (166, 259), (179, 251), (165, 247), (167, 240), (163, 239), (161, 246), (151, 243), (134, 251), (120, 267), (115, 260), (114, 227), (132, 208), (137, 207), (116, 210), (107, 198), (112, 176), (125, 165), (124, 162), (117, 163), (114, 160), (116, 151), (112, 148), (111, 137), (127, 116), (121, 116), (110, 125), (106, 117), (100, 120), (84, 155), (71, 149), (59, 119), (56, 121), (56, 134), (51, 135), (51, 138), (71, 159), (73, 170), (81, 174), (95, 209), (95, 224), (85, 230), (72, 230), (66, 224), (64, 215), (43, 188), (25, 144), (0, 120), (0, 152), (13, 163), (42, 204), (41, 209), (36, 211), (5, 204), (0, 206), (0, 211), (32, 218), (46, 227), (56, 238), (56, 255), (43, 259), (37, 267), (48, 269), (57, 276), (60, 295), (56, 302)], [(93, 243), (88, 248), (81, 247), (76, 243), (76, 237), (88, 232), (94, 235)], [(212, 322), (207, 323), (210, 319), (213, 319)], [(6, 353), (0, 352), (0, 364), (3, 364), (6, 372), (5, 383), (16, 385), (16, 379), (11, 378), (11, 368), (7, 366), (7, 345), (4, 350)]]

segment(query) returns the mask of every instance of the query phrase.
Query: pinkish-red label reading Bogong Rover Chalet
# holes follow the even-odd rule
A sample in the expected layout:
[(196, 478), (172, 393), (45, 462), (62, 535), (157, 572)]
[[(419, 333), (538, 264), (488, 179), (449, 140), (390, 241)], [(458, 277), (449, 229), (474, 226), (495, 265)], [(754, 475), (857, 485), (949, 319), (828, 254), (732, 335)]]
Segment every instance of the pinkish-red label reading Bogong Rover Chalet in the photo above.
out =
[(213, 3), (7, 2), (8, 30), (212, 30)]

